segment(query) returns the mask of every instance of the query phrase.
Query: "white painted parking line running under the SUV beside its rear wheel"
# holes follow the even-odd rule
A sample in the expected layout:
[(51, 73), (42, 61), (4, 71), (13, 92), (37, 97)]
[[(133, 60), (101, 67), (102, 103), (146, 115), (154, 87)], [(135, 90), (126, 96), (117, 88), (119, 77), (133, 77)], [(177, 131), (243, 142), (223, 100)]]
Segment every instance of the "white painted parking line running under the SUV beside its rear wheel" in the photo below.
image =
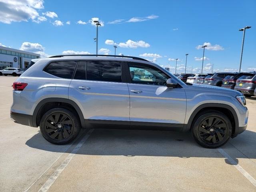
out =
[(82, 140), (76, 145), (76, 147), (72, 150), (72, 152), (66, 157), (66, 159), (62, 162), (62, 164), (54, 171), (54, 173), (48, 178), (48, 180), (44, 183), (44, 185), (38, 190), (38, 192), (46, 192), (52, 186), (54, 181), (58, 178), (61, 172), (66, 168), (68, 163), (72, 160), (74, 155), (78, 152), (78, 150), (82, 147), (84, 142), (89, 138), (93, 129), (89, 130), (88, 133), (82, 138)]

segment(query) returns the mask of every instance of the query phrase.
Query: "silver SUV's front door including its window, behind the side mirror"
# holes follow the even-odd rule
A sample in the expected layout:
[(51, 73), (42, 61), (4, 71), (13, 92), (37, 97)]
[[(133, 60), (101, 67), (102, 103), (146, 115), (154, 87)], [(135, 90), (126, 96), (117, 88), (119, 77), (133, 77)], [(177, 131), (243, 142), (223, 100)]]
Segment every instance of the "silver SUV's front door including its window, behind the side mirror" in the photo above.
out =
[(147, 122), (182, 128), (186, 115), (184, 89), (166, 87), (170, 77), (154, 66), (130, 62), (128, 68), (131, 126)]

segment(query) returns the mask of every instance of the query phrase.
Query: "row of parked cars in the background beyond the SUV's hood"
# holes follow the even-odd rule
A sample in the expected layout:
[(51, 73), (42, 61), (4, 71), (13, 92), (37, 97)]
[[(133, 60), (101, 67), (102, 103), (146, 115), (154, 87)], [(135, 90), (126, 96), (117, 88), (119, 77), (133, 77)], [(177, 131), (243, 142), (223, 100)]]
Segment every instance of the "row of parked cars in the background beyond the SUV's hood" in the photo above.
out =
[(183, 82), (221, 86), (242, 92), (245, 96), (256, 96), (256, 72), (215, 73), (215, 74), (181, 74)]

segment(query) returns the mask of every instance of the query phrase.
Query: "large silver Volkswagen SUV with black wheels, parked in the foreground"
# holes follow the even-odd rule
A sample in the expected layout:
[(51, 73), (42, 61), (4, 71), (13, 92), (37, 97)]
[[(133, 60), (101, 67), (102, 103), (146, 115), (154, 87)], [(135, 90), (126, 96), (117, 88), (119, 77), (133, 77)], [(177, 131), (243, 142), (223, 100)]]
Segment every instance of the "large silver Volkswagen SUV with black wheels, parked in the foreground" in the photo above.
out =
[(242, 93), (186, 84), (130, 56), (41, 59), (13, 88), (11, 118), (40, 126), (54, 144), (74, 140), (81, 128), (100, 127), (191, 130), (200, 145), (216, 148), (242, 133), (248, 121)]

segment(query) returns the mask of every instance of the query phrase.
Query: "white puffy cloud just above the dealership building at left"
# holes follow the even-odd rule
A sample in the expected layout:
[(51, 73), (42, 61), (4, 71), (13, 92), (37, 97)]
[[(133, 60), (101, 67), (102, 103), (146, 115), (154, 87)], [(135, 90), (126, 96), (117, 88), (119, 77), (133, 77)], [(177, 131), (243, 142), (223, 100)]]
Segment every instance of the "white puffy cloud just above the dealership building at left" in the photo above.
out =
[(41, 58), (46, 58), (50, 56), (49, 54), (46, 54), (44, 52), (44, 47), (39, 43), (23, 42), (20, 46), (20, 50), (40, 54)]

